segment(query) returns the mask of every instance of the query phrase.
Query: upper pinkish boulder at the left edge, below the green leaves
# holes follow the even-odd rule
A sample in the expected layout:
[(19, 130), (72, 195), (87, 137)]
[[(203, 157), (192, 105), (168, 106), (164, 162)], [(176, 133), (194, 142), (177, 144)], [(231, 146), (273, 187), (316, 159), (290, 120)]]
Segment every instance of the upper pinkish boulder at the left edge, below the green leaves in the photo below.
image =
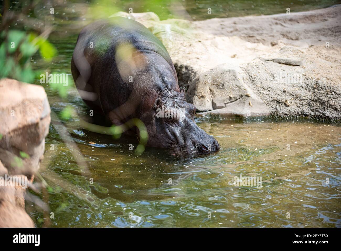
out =
[(44, 88), (0, 80), (0, 117), (0, 160), (10, 174), (30, 178), (39, 168), (51, 121)]

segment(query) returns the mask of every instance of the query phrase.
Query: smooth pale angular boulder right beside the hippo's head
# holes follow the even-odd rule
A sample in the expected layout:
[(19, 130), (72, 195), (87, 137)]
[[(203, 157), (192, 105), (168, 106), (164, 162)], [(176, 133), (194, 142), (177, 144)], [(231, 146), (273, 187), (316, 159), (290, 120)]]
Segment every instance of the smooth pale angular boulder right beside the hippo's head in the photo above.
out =
[(197, 76), (186, 93), (198, 112), (240, 116), (269, 115), (264, 102), (245, 84), (246, 74), (239, 66), (221, 64)]

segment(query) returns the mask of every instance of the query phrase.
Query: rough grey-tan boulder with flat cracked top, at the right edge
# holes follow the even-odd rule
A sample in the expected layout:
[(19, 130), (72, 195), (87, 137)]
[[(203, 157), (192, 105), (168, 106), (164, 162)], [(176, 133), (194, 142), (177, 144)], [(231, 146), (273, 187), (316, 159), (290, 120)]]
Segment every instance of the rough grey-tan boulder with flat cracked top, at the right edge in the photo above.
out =
[[(340, 119), (341, 74), (329, 74), (331, 66), (331, 62), (286, 46), (278, 53), (252, 60), (243, 70), (248, 76), (247, 83), (271, 114)], [(321, 68), (324, 72), (315, 71)]]

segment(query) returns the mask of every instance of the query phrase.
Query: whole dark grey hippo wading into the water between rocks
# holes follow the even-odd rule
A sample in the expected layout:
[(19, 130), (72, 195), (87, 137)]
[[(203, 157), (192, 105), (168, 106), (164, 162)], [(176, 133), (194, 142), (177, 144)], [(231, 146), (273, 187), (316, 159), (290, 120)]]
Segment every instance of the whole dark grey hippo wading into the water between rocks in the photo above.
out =
[[(195, 106), (186, 102), (166, 48), (137, 21), (112, 17), (86, 26), (78, 35), (71, 71), (81, 98), (94, 112), (114, 125), (140, 119), (147, 146), (177, 156), (219, 150), (217, 140), (195, 123)], [(137, 127), (130, 131), (138, 135)]]

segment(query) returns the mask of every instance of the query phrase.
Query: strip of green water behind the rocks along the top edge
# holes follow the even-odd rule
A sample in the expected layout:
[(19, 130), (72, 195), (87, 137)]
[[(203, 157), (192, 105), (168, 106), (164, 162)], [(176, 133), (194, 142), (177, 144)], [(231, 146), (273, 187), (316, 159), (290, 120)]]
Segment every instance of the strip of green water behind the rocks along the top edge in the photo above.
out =
[[(81, 4), (79, 4), (83, 3), (93, 8), (92, 12), (97, 15), (96, 18), (99, 18), (98, 11), (106, 14), (112, 14), (115, 11), (136, 13), (152, 11), (161, 20), (168, 18), (204, 20), (214, 17), (270, 15), (286, 13), (286, 8), (290, 8), (290, 12), (298, 12), (326, 8), (341, 3), (340, 0), (95, 0), (90, 4), (88, 1), (77, 2), (77, 5), (70, 1), (66, 4), (68, 8), (74, 9), (73, 16), (84, 14), (85, 7), (80, 8)], [(62, 15), (62, 13), (64, 10), (60, 9), (60, 17), (69, 16), (70, 18), (70, 14)]]

